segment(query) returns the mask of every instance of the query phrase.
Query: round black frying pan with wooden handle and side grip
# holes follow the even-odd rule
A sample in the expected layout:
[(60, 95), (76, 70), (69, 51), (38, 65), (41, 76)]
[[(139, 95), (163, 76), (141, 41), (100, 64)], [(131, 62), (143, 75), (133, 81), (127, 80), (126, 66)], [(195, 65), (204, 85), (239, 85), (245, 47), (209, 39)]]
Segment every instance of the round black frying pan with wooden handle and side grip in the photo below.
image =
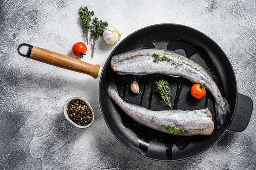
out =
[[(26, 54), (20, 52), (21, 46), (28, 46)], [(184, 78), (159, 74), (119, 75), (113, 72), (110, 66), (113, 55), (141, 48), (169, 49), (203, 66), (214, 79), (221, 94), (229, 102), (231, 121), (217, 130), (213, 96), (207, 92), (206, 97), (201, 100), (192, 98), (189, 92), (193, 83)], [(227, 55), (207, 35), (188, 26), (157, 24), (132, 33), (111, 52), (103, 69), (99, 65), (91, 65), (29, 44), (20, 44), (18, 53), (33, 60), (90, 75), (93, 78), (100, 76), (99, 105), (106, 124), (117, 140), (126, 148), (145, 158), (178, 161), (196, 156), (215, 144), (227, 130), (236, 132), (245, 130), (252, 114), (253, 101), (248, 96), (237, 92), (236, 76)], [(215, 124), (212, 135), (209, 137), (175, 136), (137, 124), (125, 115), (105, 92), (105, 81), (109, 77), (115, 80), (119, 95), (125, 101), (151, 110), (169, 109), (160, 95), (155, 92), (154, 87), (157, 80), (165, 78), (171, 87), (171, 103), (174, 109), (192, 110), (208, 107), (211, 110)], [(140, 95), (135, 95), (129, 88), (134, 80), (139, 82)]]

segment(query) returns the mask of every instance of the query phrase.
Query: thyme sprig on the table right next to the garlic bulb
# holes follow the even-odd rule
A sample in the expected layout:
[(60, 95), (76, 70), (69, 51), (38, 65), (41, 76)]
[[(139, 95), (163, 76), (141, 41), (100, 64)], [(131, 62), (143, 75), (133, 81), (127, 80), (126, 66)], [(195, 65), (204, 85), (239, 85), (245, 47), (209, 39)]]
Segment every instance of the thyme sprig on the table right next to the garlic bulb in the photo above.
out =
[(91, 31), (90, 31), (92, 58), (93, 58), (94, 52), (96, 50), (95, 44), (99, 40), (99, 37), (103, 35), (103, 32), (104, 32), (106, 26), (108, 26), (107, 22), (103, 22), (102, 20), (98, 21), (97, 17), (93, 18), (93, 22), (92, 22), (92, 26), (91, 26)]

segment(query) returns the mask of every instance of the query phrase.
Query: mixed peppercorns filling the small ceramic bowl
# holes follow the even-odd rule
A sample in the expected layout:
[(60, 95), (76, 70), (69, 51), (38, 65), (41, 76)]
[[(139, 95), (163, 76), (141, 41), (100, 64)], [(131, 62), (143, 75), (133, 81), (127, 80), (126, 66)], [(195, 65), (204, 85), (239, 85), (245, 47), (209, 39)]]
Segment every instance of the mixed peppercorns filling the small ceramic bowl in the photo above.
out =
[(73, 100), (67, 106), (67, 114), (73, 122), (81, 126), (90, 124), (92, 113), (90, 108), (81, 100)]

